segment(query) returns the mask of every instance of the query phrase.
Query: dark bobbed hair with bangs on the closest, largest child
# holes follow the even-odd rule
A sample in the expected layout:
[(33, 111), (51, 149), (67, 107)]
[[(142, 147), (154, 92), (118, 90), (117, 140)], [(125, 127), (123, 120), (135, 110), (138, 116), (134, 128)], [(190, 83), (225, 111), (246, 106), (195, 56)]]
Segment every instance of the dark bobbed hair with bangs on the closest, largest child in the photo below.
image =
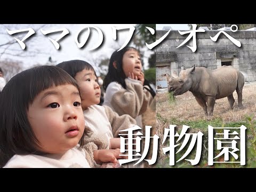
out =
[[(15, 154), (44, 154), (38, 150), (39, 143), (31, 129), (27, 111), (40, 92), (66, 84), (78, 89), (66, 71), (55, 66), (38, 66), (15, 75), (4, 86), (0, 94), (0, 167)], [(81, 146), (82, 138), (79, 141)]]

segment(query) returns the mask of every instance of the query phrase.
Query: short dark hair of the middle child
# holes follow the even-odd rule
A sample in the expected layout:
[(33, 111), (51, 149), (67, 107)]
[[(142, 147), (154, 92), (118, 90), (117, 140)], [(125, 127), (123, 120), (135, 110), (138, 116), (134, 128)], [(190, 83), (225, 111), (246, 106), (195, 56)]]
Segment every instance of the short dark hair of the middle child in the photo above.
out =
[(78, 72), (80, 72), (84, 69), (92, 70), (92, 71), (94, 71), (94, 74), (96, 75), (94, 68), (89, 63), (87, 63), (86, 61), (82, 61), (82, 60), (63, 61), (56, 66), (65, 70), (73, 78), (75, 78), (75, 76)]

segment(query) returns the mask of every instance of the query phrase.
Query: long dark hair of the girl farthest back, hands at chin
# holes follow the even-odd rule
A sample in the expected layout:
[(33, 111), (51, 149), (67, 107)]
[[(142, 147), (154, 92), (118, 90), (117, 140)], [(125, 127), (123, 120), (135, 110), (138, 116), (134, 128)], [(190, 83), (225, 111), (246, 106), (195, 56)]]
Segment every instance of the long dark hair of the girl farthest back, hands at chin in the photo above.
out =
[[(124, 53), (126, 51), (130, 51), (130, 50), (135, 50), (138, 53), (140, 53), (139, 50), (137, 50), (137, 49), (135, 49), (134, 47), (131, 47), (131, 46), (126, 46), (122, 50), (115, 51), (114, 53), (112, 53), (112, 55), (110, 57), (110, 61), (109, 61), (109, 66), (108, 66), (108, 74), (106, 75), (106, 77), (104, 79), (104, 82), (103, 82), (103, 88), (104, 88), (105, 91), (107, 90), (107, 87), (111, 82), (117, 82), (117, 83), (121, 84), (124, 89), (126, 89), (126, 84), (125, 84), (125, 81), (124, 81), (126, 76), (124, 74), (122, 64), (123, 64)], [(115, 61), (116, 61), (116, 67), (117, 68), (115, 68), (114, 65), (113, 65), (113, 63)], [(151, 93), (151, 95), (153, 97), (155, 97), (156, 93), (152, 89), (152, 87), (150, 86), (150, 82), (147, 79), (145, 79), (143, 85), (148, 85), (150, 89), (147, 89), (147, 90)]]

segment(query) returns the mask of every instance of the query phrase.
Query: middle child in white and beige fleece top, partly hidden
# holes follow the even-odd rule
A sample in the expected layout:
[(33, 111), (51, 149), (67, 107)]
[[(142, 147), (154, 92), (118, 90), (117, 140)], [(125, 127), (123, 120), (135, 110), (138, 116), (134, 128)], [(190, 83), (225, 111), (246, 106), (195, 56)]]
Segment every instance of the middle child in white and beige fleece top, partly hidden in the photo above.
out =
[[(100, 106), (100, 86), (93, 67), (82, 60), (70, 60), (57, 65), (73, 77), (78, 86), (82, 99), (82, 109), (85, 125), (94, 132), (108, 139), (107, 149), (120, 148), (119, 131), (128, 129), (136, 124), (130, 115), (118, 115), (108, 106)], [(91, 144), (93, 145), (93, 140)], [(87, 151), (95, 151), (97, 145), (89, 147)], [(93, 153), (90, 153), (93, 154)]]

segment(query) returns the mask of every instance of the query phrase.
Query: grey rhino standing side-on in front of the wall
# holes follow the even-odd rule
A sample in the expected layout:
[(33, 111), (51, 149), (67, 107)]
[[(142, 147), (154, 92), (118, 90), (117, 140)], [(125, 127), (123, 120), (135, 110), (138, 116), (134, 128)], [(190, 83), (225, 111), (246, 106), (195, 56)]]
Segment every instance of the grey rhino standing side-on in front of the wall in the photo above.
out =
[(174, 95), (191, 91), (205, 115), (212, 116), (216, 99), (227, 97), (230, 108), (233, 107), (235, 90), (238, 95), (238, 107), (243, 108), (243, 86), (243, 74), (232, 66), (222, 66), (215, 70), (194, 66), (181, 70), (179, 77), (169, 79), (168, 91), (173, 91)]

